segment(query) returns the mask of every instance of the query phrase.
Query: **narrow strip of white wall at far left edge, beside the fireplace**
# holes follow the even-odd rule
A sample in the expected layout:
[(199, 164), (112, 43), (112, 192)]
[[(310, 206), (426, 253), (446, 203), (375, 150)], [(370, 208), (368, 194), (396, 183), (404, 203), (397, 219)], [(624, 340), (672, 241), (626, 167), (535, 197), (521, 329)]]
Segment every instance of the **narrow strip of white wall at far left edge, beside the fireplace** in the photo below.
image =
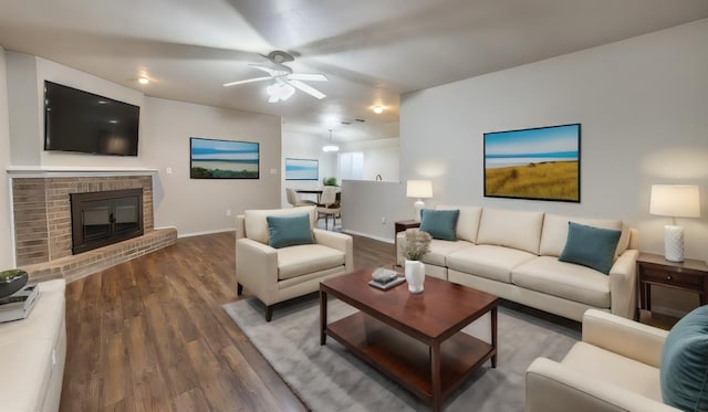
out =
[(8, 117), (8, 82), (6, 51), (0, 47), (0, 271), (12, 266), (14, 249), (10, 225), (10, 191), (4, 169), (10, 165), (10, 120)]

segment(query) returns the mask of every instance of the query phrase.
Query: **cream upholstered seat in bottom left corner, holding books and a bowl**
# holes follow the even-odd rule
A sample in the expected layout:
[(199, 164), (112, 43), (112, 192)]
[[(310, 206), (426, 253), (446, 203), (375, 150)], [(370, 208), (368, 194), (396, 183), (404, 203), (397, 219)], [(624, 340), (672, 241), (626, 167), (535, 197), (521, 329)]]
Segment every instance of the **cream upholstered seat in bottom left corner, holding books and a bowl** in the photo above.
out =
[(39, 284), (27, 319), (0, 324), (0, 410), (59, 411), (66, 358), (63, 279)]

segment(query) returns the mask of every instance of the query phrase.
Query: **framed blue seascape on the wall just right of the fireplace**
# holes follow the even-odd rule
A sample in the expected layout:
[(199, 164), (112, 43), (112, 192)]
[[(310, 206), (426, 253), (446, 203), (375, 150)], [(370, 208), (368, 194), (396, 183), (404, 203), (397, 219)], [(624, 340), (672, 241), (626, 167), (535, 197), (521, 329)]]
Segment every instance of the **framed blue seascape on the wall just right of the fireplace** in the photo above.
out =
[(252, 141), (189, 139), (191, 179), (258, 179), (259, 144)]

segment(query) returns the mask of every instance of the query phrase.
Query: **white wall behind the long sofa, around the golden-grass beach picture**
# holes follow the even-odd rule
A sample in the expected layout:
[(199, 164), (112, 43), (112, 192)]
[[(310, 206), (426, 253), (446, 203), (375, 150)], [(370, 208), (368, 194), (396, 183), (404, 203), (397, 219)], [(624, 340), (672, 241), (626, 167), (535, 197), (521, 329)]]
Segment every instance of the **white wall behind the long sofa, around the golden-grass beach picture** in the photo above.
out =
[[(431, 178), (435, 203), (615, 218), (663, 253), (667, 218), (648, 214), (652, 183), (698, 184), (684, 219), (686, 255), (708, 258), (708, 20), (402, 98), (402, 176)], [(582, 124), (581, 202), (482, 196), (485, 131)]]

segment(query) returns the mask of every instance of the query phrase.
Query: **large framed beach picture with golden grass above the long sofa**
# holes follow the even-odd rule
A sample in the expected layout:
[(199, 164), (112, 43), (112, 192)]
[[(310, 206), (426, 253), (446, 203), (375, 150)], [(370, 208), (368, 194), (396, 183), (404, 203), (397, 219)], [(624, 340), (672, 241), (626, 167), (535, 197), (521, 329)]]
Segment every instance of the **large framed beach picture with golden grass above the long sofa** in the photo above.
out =
[(580, 202), (580, 124), (485, 134), (485, 197)]

